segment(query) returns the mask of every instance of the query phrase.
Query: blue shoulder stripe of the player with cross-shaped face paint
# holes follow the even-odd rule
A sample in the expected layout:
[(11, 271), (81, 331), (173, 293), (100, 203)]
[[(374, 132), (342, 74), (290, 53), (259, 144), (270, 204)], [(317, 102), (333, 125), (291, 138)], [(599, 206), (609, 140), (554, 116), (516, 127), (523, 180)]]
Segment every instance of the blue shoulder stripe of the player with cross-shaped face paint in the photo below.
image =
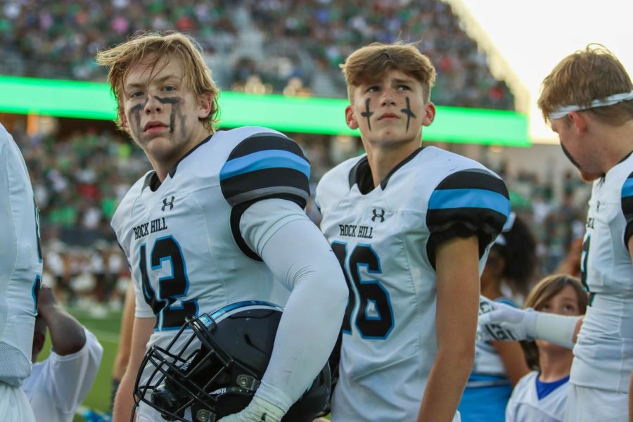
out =
[(433, 191), (428, 201), (429, 210), (452, 208), (487, 208), (510, 214), (510, 200), (500, 193), (486, 189), (445, 189)]

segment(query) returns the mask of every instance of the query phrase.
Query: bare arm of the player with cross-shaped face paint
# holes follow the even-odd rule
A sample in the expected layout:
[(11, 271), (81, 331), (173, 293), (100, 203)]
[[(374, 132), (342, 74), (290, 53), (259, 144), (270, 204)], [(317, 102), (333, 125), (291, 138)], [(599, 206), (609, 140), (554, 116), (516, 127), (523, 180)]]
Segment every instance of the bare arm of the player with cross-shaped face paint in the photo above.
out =
[(453, 238), (437, 246), (437, 357), (418, 422), (452, 421), (473, 368), (479, 309), (478, 248), (475, 236)]

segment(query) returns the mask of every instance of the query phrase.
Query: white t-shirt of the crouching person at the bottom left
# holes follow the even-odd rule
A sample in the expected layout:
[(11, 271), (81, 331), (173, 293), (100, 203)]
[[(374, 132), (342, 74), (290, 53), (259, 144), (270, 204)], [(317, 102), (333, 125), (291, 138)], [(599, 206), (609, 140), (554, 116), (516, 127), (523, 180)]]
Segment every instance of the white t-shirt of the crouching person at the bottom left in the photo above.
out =
[(51, 351), (25, 379), (23, 388), (37, 422), (71, 422), (92, 387), (103, 348), (86, 328), (84, 333), (86, 344), (79, 352), (60, 356)]

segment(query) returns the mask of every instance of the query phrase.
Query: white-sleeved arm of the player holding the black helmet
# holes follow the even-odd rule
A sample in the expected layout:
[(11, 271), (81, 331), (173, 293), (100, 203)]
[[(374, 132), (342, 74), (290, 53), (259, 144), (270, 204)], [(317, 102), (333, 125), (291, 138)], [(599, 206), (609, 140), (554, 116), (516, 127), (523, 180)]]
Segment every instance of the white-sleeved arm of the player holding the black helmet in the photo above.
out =
[[(302, 239), (303, 248), (284, 252), (295, 238)], [(257, 396), (286, 411), (326, 364), (338, 338), (348, 290), (338, 260), (308, 219), (276, 231), (262, 258), (292, 293)]]

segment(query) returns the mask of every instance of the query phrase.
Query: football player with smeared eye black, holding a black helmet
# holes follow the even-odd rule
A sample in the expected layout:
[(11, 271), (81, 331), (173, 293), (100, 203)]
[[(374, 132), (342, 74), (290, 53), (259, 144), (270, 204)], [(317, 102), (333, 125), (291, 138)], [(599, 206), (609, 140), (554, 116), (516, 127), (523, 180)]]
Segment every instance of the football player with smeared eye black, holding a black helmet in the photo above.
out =
[[(285, 309), (255, 398), (222, 421), (281, 420), (327, 362), (347, 298), (335, 255), (302, 210), (309, 162), (274, 130), (215, 130), (219, 91), (191, 37), (141, 34), (97, 60), (110, 68), (117, 122), (153, 166), (112, 221), (136, 290), (115, 421), (129, 420), (147, 347), (165, 347), (187, 317), (244, 300)], [(161, 418), (141, 403), (136, 420)]]

